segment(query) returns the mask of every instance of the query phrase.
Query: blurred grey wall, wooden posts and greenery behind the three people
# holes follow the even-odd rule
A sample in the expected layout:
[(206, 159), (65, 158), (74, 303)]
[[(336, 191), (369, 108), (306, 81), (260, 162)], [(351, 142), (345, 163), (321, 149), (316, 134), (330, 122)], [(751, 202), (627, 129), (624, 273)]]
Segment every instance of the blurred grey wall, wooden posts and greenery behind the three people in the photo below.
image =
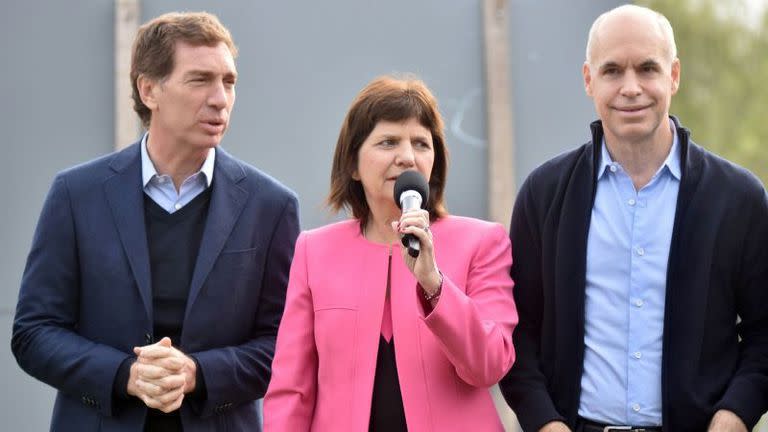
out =
[[(125, 71), (131, 23), (207, 10), (231, 30), (240, 77), (222, 145), (299, 194), (303, 229), (343, 216), (322, 203), (352, 98), (377, 75), (406, 72), (431, 87), (446, 120), (449, 211), (508, 225), (525, 176), (588, 140), (595, 114), (581, 78), (587, 32), (621, 3), (2, 0), (2, 429), (49, 428), (54, 391), (25, 375), (10, 353), (19, 283), (54, 175), (140, 136)], [(765, 183), (768, 0), (638, 3), (666, 14), (675, 29), (682, 85), (672, 112), (699, 144)]]

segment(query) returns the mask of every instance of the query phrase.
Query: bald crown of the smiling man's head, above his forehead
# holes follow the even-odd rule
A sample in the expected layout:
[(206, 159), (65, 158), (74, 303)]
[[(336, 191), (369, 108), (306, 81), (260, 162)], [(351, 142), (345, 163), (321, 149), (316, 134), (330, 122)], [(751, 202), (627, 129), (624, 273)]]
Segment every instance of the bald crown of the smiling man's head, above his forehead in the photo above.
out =
[(600, 46), (601, 37), (604, 37), (605, 32), (603, 30), (606, 27), (623, 25), (626, 22), (647, 25), (648, 30), (656, 32), (661, 42), (666, 46), (668, 60), (671, 62), (677, 58), (677, 46), (675, 45), (672, 25), (664, 15), (642, 6), (623, 5), (603, 13), (592, 23), (587, 40), (587, 63), (591, 64), (594, 60), (595, 49)]

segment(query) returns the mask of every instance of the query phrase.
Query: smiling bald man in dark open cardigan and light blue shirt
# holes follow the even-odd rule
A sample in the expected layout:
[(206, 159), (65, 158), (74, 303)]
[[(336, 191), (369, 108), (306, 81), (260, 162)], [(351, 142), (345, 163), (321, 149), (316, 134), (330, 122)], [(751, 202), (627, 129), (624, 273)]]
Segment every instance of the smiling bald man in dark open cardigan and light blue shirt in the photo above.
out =
[(592, 139), (537, 168), (510, 236), (526, 431), (747, 431), (768, 409), (768, 200), (669, 115), (669, 21), (598, 17)]

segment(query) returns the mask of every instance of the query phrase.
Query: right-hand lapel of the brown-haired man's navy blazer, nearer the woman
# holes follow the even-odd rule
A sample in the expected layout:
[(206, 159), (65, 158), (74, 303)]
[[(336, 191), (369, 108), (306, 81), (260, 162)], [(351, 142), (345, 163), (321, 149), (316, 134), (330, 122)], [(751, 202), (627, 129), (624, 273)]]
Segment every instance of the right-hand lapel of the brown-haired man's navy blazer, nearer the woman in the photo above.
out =
[(185, 321), (248, 199), (248, 191), (238, 185), (240, 180), (245, 178), (245, 171), (221, 148), (216, 149), (213, 178), (211, 203), (192, 274), (189, 298), (184, 313)]

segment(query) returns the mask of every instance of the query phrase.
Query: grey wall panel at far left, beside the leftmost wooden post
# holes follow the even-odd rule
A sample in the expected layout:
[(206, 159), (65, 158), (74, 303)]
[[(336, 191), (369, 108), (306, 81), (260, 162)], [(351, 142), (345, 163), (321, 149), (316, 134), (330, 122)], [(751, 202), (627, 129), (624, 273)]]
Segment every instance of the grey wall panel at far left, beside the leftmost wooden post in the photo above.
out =
[(5, 431), (48, 429), (54, 391), (10, 353), (19, 281), (54, 174), (112, 147), (111, 2), (0, 5), (0, 418)]

